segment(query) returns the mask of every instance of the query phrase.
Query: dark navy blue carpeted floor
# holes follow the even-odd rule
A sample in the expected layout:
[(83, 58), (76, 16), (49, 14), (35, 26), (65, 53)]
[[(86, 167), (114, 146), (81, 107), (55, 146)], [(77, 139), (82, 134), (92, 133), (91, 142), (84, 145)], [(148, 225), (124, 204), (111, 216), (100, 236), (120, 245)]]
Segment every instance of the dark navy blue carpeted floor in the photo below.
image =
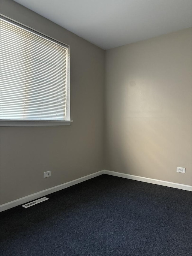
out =
[(192, 192), (102, 175), (0, 213), (1, 256), (191, 256)]

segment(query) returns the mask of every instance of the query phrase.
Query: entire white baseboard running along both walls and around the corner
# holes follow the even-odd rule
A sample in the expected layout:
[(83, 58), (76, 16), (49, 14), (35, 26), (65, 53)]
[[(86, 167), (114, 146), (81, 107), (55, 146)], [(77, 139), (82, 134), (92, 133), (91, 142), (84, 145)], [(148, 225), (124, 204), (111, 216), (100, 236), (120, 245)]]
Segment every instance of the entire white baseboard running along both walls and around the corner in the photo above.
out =
[(174, 182), (169, 182), (169, 181), (164, 181), (164, 180), (159, 180), (159, 179), (151, 179), (151, 178), (126, 174), (126, 173), (113, 172), (113, 171), (109, 171), (109, 170), (102, 170), (102, 171), (99, 171), (96, 173), (89, 174), (87, 176), (83, 176), (79, 179), (74, 179), (72, 181), (63, 183), (61, 185), (39, 191), (37, 193), (28, 195), (26, 197), (22, 197), (22, 198), (14, 200), (14, 201), (1, 204), (0, 212), (5, 211), (10, 208), (13, 208), (15, 206), (18, 206), (20, 204), (24, 204), (24, 203), (33, 201), (39, 197), (44, 197), (48, 194), (54, 193), (54, 192), (59, 191), (64, 188), (68, 188), (70, 186), (76, 185), (80, 182), (83, 182), (88, 179), (92, 179), (92, 178), (97, 177), (102, 174), (113, 175), (113, 176), (117, 176), (117, 177), (121, 177), (121, 178), (125, 178), (125, 179), (133, 179), (133, 180), (137, 180), (137, 181), (152, 183), (152, 184), (166, 186), (166, 187), (170, 187), (170, 188), (179, 188), (179, 189), (183, 189), (183, 190), (187, 190), (187, 191), (192, 191), (192, 186), (190, 186), (190, 185), (184, 185), (184, 184), (180, 184), (180, 183), (174, 183)]

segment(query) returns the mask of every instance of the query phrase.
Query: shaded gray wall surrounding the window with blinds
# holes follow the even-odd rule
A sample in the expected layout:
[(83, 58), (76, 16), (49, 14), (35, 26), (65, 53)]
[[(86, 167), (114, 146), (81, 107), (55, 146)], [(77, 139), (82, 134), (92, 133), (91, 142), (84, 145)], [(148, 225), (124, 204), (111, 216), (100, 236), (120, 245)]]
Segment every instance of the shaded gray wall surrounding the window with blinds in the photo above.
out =
[(70, 45), (73, 120), (71, 126), (0, 127), (3, 204), (104, 169), (104, 50), (11, 0), (0, 0), (0, 13)]

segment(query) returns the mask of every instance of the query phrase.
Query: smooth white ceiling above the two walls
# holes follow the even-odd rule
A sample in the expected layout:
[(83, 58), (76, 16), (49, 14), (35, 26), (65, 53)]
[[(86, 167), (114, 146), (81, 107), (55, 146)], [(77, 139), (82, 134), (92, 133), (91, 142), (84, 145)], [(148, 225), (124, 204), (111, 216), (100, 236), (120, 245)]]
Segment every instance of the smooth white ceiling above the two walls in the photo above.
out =
[(192, 27), (192, 0), (15, 0), (103, 48)]

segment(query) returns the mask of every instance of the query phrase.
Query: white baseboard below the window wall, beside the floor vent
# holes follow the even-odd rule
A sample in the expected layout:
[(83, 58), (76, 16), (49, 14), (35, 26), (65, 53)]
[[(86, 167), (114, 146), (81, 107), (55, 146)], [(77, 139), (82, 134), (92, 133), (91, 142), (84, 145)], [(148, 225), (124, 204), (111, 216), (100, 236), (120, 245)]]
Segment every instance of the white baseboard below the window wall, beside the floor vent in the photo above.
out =
[(56, 191), (59, 191), (61, 189), (68, 188), (70, 186), (76, 185), (76, 184), (78, 184), (80, 182), (83, 182), (85, 180), (92, 179), (92, 178), (97, 177), (97, 176), (99, 176), (99, 175), (101, 175), (103, 173), (104, 173), (103, 170), (99, 171), (99, 172), (96, 172), (96, 173), (92, 173), (92, 174), (89, 174), (87, 176), (81, 177), (79, 179), (74, 179), (72, 181), (63, 183), (61, 185), (58, 185), (58, 186), (55, 186), (55, 187), (52, 187), (52, 188), (48, 188), (48, 189), (39, 191), (37, 193), (28, 195), (26, 197), (22, 197), (22, 198), (14, 200), (14, 201), (1, 204), (0, 205), (0, 212), (5, 211), (5, 210), (10, 209), (10, 208), (13, 208), (15, 206), (18, 206), (20, 204), (24, 204), (24, 203), (30, 202), (32, 200), (35, 200), (35, 199), (39, 198), (39, 197), (44, 197), (44, 196), (46, 196), (48, 194), (51, 194), (51, 193), (56, 192)]

